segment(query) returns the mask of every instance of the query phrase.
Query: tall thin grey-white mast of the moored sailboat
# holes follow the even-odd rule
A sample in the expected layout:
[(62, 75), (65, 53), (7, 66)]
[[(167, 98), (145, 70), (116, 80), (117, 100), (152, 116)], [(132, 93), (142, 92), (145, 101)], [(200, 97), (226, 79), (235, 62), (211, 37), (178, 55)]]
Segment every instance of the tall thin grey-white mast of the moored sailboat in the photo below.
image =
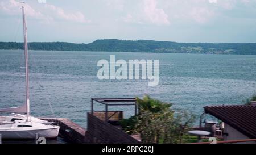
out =
[(22, 6), (23, 17), (23, 33), (24, 33), (24, 55), (25, 55), (25, 71), (26, 71), (26, 106), (27, 106), (27, 121), (30, 116), (30, 97), (29, 97), (29, 85), (28, 85), (28, 52), (27, 52), (27, 24), (26, 15), (24, 14), (24, 6)]

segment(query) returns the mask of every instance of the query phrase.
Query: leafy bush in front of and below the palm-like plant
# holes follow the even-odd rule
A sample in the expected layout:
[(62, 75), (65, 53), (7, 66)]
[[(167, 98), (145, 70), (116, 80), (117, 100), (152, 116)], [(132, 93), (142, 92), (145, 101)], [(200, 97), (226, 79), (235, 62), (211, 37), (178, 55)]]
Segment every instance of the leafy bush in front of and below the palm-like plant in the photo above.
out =
[(138, 116), (135, 131), (141, 134), (143, 143), (184, 143), (193, 119), (187, 112), (175, 115), (174, 111), (144, 111)]

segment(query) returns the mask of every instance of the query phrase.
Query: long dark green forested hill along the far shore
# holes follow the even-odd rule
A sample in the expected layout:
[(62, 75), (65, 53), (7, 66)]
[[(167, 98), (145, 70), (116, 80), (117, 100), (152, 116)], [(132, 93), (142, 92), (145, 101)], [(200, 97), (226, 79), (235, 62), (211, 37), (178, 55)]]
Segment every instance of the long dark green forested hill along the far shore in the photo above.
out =
[[(0, 42), (0, 49), (23, 49), (23, 43)], [(154, 40), (103, 39), (89, 44), (29, 43), (28, 49), (49, 51), (115, 51), (256, 55), (256, 43), (176, 43)]]

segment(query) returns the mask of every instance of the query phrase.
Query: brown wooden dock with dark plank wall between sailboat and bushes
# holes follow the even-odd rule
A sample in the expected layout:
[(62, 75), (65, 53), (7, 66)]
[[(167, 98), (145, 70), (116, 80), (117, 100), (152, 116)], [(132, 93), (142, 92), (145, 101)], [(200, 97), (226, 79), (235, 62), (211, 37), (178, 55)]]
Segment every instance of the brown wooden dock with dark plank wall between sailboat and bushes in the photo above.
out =
[[(122, 111), (108, 111), (110, 121), (115, 122), (123, 118)], [(68, 143), (141, 143), (139, 135), (128, 135), (118, 126), (105, 121), (105, 112), (87, 113), (87, 130), (66, 118), (39, 118), (48, 120), (60, 126), (59, 136)]]

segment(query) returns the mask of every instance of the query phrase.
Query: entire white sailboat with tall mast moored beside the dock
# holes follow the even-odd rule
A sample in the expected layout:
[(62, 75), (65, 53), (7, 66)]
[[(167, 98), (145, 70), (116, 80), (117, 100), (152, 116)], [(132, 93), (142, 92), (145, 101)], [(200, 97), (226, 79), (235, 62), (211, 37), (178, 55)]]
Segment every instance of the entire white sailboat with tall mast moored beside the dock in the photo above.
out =
[(12, 113), (10, 116), (0, 116), (0, 134), (3, 139), (34, 139), (36, 136), (54, 138), (59, 135), (59, 126), (51, 125), (51, 122), (41, 120), (30, 115), (27, 25), (24, 6), (22, 6), (22, 16), (26, 72), (26, 100), (20, 107), (0, 109), (0, 112)]

